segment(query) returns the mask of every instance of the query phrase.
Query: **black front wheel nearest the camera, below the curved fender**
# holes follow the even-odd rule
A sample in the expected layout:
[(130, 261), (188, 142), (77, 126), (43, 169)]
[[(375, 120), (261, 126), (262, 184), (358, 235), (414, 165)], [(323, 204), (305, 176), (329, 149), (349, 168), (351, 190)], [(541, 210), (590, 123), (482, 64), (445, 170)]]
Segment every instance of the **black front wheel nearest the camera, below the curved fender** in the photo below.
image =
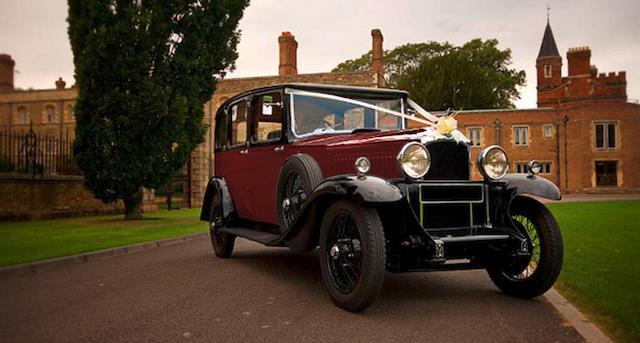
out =
[(386, 261), (378, 212), (353, 201), (333, 203), (322, 219), (319, 255), (322, 280), (338, 307), (358, 312), (371, 306), (382, 289)]

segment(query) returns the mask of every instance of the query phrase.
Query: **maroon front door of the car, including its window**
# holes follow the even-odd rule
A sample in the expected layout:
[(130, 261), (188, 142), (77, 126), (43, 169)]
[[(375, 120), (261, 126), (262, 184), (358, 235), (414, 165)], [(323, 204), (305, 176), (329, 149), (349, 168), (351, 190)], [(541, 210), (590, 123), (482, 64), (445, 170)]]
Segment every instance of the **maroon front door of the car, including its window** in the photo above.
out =
[(256, 221), (275, 225), (278, 225), (278, 176), (289, 154), (284, 135), (284, 112), (281, 91), (257, 94), (251, 101), (251, 207)]

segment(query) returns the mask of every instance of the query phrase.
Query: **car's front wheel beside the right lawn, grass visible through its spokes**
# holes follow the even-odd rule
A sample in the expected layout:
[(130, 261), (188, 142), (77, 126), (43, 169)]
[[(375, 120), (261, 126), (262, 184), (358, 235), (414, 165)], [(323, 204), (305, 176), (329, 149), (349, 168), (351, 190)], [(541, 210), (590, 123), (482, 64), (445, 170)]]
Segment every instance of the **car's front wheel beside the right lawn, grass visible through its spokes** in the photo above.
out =
[(514, 199), (511, 217), (528, 235), (532, 258), (517, 266), (508, 266), (509, 261), (502, 261), (500, 265), (487, 268), (487, 272), (504, 293), (534, 298), (548, 291), (560, 275), (564, 255), (562, 234), (549, 209), (532, 198), (519, 196)]

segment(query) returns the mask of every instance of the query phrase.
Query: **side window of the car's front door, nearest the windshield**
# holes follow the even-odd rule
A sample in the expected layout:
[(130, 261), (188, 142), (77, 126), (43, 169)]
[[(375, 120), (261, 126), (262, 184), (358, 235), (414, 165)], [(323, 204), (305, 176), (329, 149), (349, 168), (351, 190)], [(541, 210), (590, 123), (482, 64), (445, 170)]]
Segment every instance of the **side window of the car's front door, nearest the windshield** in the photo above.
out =
[(254, 142), (274, 142), (282, 137), (282, 94), (263, 94), (253, 99)]

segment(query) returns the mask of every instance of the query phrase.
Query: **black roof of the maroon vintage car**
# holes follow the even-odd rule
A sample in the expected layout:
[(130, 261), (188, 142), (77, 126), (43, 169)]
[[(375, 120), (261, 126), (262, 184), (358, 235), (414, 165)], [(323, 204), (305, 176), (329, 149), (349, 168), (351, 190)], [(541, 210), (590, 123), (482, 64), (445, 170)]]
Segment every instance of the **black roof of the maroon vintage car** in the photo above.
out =
[(284, 88), (300, 89), (311, 92), (320, 93), (332, 93), (332, 94), (367, 94), (367, 95), (381, 95), (385, 97), (407, 97), (409, 93), (400, 89), (390, 88), (373, 88), (373, 87), (356, 87), (356, 86), (340, 86), (340, 85), (327, 85), (320, 83), (278, 83), (271, 86), (253, 88), (248, 91), (244, 91), (237, 95), (234, 95), (227, 101), (225, 101), (220, 108), (223, 108), (230, 102), (234, 102), (238, 99), (242, 99), (252, 94), (268, 92), (272, 90), (279, 90)]

